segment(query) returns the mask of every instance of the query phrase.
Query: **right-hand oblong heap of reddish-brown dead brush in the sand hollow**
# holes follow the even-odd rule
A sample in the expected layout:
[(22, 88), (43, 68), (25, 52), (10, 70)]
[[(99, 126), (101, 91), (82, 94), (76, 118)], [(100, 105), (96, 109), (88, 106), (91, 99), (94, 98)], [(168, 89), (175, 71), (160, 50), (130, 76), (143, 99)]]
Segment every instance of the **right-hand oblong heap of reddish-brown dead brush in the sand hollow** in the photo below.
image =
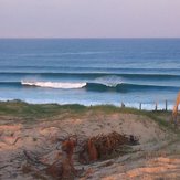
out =
[[(130, 135), (125, 136), (116, 131), (108, 135), (97, 135), (85, 140), (80, 151), (80, 162), (89, 163), (96, 160), (107, 159), (125, 145), (137, 145), (138, 138)], [(123, 151), (121, 151), (123, 152)]]

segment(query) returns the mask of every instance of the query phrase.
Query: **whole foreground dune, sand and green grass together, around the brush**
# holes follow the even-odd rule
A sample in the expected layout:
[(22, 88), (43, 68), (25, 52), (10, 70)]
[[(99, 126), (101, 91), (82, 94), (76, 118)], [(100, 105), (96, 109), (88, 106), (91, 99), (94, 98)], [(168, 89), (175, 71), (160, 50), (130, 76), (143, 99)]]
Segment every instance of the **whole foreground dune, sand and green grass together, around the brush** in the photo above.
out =
[[(45, 173), (45, 167), (41, 163), (50, 166), (57, 157), (62, 158), (61, 138), (75, 135), (82, 140), (115, 131), (135, 136), (138, 144), (123, 153), (88, 163), (77, 160), (75, 149), (74, 168), (82, 170), (82, 173), (73, 179), (178, 180), (180, 131), (170, 120), (171, 112), (146, 112), (109, 105), (86, 107), (77, 104), (61, 106), (1, 102), (0, 179), (54, 179)], [(39, 161), (34, 161), (35, 158)]]

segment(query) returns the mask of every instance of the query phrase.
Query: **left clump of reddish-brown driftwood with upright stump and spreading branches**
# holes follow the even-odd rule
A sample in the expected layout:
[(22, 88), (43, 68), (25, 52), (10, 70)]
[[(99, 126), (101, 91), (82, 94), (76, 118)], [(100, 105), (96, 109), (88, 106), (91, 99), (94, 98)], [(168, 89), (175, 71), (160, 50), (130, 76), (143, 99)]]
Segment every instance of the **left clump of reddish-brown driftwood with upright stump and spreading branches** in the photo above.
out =
[[(43, 176), (43, 173), (46, 173), (56, 180), (74, 179), (74, 177), (77, 176), (77, 171), (74, 168), (72, 159), (75, 146), (76, 138), (68, 137), (67, 139), (64, 139), (61, 146), (62, 156), (57, 157), (55, 162), (53, 162), (52, 165), (43, 163), (40, 160), (41, 158), (34, 157), (31, 152), (23, 150), (28, 163), (22, 167), (22, 171), (24, 173), (33, 172), (41, 176)], [(41, 168), (40, 170), (40, 166), (43, 166), (45, 168)]]

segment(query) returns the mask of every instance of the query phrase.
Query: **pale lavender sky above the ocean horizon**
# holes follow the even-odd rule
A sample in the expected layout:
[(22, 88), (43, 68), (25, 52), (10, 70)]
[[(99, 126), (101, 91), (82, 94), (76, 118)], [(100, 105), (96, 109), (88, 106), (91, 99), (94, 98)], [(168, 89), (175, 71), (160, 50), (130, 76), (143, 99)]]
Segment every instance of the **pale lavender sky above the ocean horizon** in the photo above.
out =
[(0, 0), (0, 38), (180, 38), (180, 0)]

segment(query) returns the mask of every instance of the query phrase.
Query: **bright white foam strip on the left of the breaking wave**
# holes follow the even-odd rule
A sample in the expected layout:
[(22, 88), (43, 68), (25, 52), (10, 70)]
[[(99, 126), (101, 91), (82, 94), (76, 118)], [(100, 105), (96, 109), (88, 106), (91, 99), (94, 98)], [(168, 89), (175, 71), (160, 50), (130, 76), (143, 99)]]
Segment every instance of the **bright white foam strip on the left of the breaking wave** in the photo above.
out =
[(21, 81), (22, 85), (49, 87), (49, 88), (82, 88), (86, 83), (64, 83), (64, 82), (36, 82), (36, 81)]

